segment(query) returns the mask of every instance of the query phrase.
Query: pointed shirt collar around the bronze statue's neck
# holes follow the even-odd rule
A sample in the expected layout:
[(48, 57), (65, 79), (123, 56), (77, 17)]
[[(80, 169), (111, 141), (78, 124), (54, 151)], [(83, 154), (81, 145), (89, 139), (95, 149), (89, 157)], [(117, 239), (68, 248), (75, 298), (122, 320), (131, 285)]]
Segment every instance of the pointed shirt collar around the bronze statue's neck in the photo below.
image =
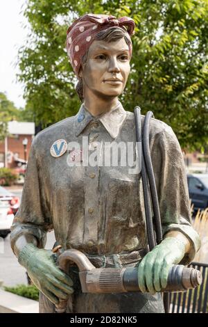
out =
[(94, 117), (87, 109), (84, 104), (80, 106), (80, 110), (75, 116), (76, 123), (76, 136), (78, 136), (87, 127), (89, 122), (100, 121), (102, 122), (105, 129), (108, 131), (112, 138), (116, 138), (119, 135), (119, 130), (123, 121), (126, 117), (126, 111), (123, 109), (121, 102), (118, 102), (116, 106), (107, 113), (103, 113), (98, 117)]

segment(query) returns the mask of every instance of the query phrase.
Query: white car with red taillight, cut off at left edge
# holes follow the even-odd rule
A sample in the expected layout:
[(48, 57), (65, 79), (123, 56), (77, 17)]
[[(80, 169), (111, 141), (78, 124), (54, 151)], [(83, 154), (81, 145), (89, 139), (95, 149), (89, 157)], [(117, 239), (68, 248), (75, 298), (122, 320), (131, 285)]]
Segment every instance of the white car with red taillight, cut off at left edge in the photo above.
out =
[(9, 202), (0, 200), (0, 237), (7, 237), (14, 219)]

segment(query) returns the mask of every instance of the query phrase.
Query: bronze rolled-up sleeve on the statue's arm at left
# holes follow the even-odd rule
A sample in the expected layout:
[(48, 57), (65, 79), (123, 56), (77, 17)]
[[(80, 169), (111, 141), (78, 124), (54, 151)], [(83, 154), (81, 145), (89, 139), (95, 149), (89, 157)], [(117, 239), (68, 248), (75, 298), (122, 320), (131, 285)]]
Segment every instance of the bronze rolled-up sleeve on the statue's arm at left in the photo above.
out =
[(15, 241), (22, 234), (33, 234), (37, 239), (37, 246), (39, 248), (44, 247), (46, 232), (53, 229), (42, 185), (40, 160), (37, 159), (35, 143), (36, 138), (33, 140), (28, 159), (21, 204), (11, 227), (10, 244), (12, 250)]

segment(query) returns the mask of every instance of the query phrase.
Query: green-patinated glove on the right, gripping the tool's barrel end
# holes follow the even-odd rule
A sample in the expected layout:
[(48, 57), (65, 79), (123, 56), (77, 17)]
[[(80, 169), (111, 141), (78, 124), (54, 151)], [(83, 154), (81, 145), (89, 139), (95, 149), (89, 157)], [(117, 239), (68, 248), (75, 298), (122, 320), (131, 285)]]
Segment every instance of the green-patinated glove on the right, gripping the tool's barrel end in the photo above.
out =
[(181, 262), (186, 244), (177, 237), (167, 237), (141, 260), (138, 269), (141, 292), (155, 294), (164, 289), (173, 264)]

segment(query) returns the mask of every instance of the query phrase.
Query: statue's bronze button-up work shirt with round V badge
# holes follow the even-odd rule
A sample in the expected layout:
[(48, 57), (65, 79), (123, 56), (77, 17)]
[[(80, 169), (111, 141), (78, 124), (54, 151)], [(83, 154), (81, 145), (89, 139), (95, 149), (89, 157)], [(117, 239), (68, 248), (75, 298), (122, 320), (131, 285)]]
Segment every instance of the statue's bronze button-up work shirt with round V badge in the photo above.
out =
[[(144, 116), (141, 118), (144, 122)], [(15, 216), (11, 244), (24, 233), (33, 234), (44, 247), (46, 232), (54, 230), (63, 248), (76, 248), (92, 255), (132, 253), (147, 246), (141, 172), (130, 165), (83, 164), (87, 140), (89, 155), (103, 153), (100, 144), (136, 143), (135, 117), (120, 102), (109, 112), (94, 117), (84, 105), (73, 117), (41, 131), (33, 140), (21, 205)], [(50, 149), (57, 140), (76, 142), (80, 151), (67, 150), (53, 157)], [(139, 154), (133, 149), (133, 157)], [(115, 151), (110, 152), (110, 156)], [(139, 153), (139, 152), (138, 152)], [(191, 242), (184, 257), (188, 264), (200, 246), (191, 226), (187, 177), (182, 151), (171, 127), (150, 120), (150, 154), (159, 198), (162, 232), (178, 230)], [(74, 161), (74, 162), (73, 162)], [(79, 166), (72, 163), (79, 163)], [(101, 310), (101, 309), (99, 309)]]

